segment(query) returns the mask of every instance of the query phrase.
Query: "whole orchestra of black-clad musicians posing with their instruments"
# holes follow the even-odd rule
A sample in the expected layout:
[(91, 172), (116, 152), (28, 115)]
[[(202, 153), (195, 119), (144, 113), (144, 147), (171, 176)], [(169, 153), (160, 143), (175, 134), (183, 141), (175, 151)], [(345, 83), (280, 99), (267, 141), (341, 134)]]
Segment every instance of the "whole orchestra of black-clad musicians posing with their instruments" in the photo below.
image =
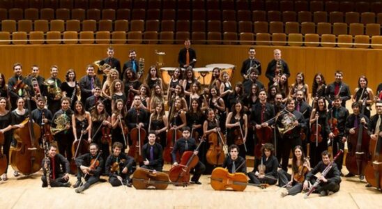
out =
[[(14, 176), (42, 167), (43, 187), (74, 187), (79, 193), (101, 176), (113, 187), (131, 187), (143, 181), (135, 171), (155, 176), (170, 163), (168, 176), (175, 185), (200, 185), (200, 176), (207, 174), (214, 189), (233, 178), (224, 188), (243, 186), (236, 181), (259, 187), (278, 182), (286, 188), (282, 196), (310, 190), (327, 196), (339, 191), (347, 141), (345, 177), (365, 178), (367, 187), (381, 190), (382, 84), (374, 94), (367, 77), (360, 76), (352, 92), (342, 71), (333, 73), (331, 84), (316, 73), (310, 96), (303, 72), (289, 85), (289, 66), (275, 49), (266, 86), (258, 79), (265, 67), (255, 54), (250, 47), (240, 70), (243, 82), (234, 86), (220, 68), (213, 69), (208, 84), (198, 81), (190, 40), (178, 54), (179, 68), (168, 86), (157, 66), (144, 69), (135, 50), (121, 65), (113, 47), (107, 48), (107, 58), (87, 65), (82, 78), (69, 69), (61, 80), (53, 65), (45, 79), (38, 65), (28, 72), (15, 63), (8, 82), (0, 73), (1, 180), (8, 179), (8, 165)], [(252, 171), (247, 171), (247, 155), (254, 155)], [(70, 173), (77, 175), (74, 185)], [(243, 173), (244, 180), (235, 176)]]

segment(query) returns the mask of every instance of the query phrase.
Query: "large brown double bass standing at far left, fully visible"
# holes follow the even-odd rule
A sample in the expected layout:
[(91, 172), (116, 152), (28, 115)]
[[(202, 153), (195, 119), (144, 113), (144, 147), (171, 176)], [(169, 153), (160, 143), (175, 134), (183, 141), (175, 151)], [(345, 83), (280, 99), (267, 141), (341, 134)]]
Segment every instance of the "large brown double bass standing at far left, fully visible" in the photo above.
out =
[(24, 127), (20, 127), (13, 132), (17, 145), (10, 152), (10, 164), (15, 171), (29, 175), (41, 169), (41, 162), (45, 157), (45, 153), (38, 144), (38, 139), (41, 137), (41, 128), (40, 125), (32, 121), (31, 98), (28, 91), (25, 91), (25, 93), (29, 118), (26, 118), (21, 123)]

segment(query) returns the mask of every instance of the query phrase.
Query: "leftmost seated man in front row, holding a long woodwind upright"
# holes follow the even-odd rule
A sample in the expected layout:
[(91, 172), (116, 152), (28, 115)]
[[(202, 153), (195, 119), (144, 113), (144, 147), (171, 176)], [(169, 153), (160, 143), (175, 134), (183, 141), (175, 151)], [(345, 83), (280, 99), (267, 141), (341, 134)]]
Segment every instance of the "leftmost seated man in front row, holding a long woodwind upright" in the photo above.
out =
[(43, 181), (43, 187), (47, 187), (47, 169), (49, 169), (49, 185), (51, 187), (70, 187), (69, 172), (70, 166), (68, 160), (66, 160), (63, 155), (57, 153), (57, 146), (50, 145), (49, 151), (49, 164), (45, 167), (45, 158), (41, 163), (43, 165), (43, 176), (41, 180)]

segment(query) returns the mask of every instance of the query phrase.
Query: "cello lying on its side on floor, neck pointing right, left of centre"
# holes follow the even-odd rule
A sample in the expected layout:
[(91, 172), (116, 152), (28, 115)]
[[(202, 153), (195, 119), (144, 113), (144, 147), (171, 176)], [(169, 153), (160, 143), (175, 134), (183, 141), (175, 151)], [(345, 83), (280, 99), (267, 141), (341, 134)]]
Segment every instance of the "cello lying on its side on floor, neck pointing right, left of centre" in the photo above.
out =
[(184, 183), (172, 183), (169, 174), (155, 170), (137, 168), (132, 173), (132, 186), (135, 189), (167, 189), (168, 185), (187, 186)]

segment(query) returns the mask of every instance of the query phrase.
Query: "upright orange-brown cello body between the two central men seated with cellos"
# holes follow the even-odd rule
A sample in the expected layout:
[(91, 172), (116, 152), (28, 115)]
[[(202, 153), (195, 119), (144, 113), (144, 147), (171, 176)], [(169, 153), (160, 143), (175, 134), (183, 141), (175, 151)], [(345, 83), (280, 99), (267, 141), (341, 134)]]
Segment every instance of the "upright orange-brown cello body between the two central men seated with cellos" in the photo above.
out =
[[(217, 132), (211, 132), (208, 134), (208, 143), (210, 144), (210, 148), (208, 148), (206, 154), (207, 162), (217, 166), (222, 165), (225, 160), (223, 144), (219, 139), (219, 135), (223, 136), (222, 132), (220, 132), (220, 134)], [(224, 139), (222, 140), (224, 141)]]

